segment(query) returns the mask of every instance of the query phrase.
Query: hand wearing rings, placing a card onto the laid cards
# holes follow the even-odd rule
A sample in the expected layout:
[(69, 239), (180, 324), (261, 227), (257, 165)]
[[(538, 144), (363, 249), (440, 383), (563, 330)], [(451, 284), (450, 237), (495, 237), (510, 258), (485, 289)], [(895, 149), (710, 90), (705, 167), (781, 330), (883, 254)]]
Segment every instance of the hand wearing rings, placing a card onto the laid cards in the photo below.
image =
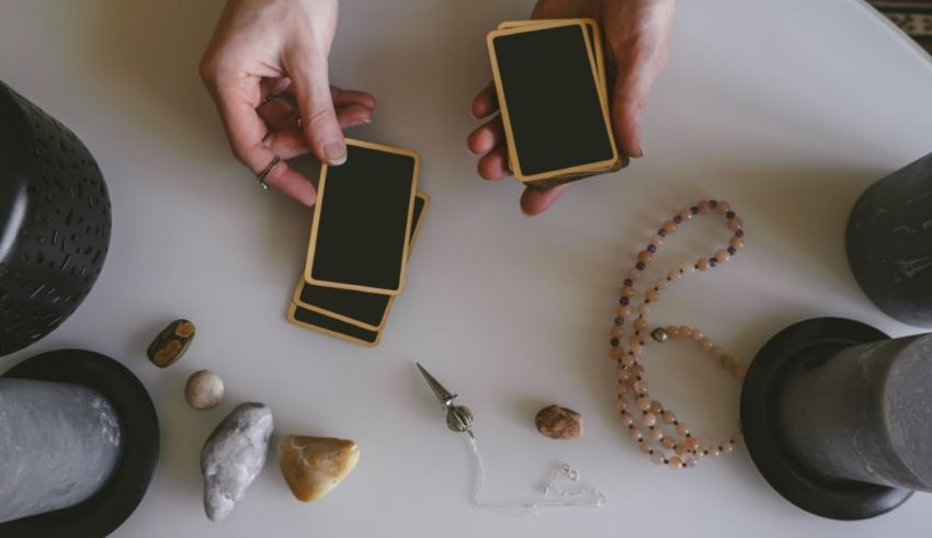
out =
[[(281, 157), (265, 182), (308, 206), (314, 186), (284, 159), (309, 149), (321, 162), (342, 164), (343, 129), (371, 122), (375, 108), (368, 93), (329, 83), (338, 11), (338, 0), (229, 0), (201, 60), (234, 156), (254, 174)], [(257, 108), (282, 93), (294, 98), (299, 116), (270, 125)]]

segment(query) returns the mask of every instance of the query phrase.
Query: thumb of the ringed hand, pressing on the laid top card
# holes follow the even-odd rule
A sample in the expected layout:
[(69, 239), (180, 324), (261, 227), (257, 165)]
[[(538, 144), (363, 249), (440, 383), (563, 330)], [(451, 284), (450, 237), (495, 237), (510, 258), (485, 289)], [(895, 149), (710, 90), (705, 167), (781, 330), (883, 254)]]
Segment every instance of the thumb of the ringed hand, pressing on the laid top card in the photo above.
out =
[(311, 152), (331, 165), (346, 162), (346, 142), (337, 121), (327, 57), (321, 54), (294, 55), (285, 58), (285, 68), (294, 81), (295, 98), (300, 110), (302, 128)]

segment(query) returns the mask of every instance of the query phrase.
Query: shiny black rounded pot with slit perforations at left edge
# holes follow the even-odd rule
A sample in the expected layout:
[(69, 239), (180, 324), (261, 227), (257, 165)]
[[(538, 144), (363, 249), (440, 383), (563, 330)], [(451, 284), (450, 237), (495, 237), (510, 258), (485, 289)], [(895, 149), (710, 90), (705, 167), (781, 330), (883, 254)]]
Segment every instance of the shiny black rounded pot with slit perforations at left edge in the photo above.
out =
[(110, 245), (106, 183), (81, 140), (0, 82), (0, 355), (57, 328)]

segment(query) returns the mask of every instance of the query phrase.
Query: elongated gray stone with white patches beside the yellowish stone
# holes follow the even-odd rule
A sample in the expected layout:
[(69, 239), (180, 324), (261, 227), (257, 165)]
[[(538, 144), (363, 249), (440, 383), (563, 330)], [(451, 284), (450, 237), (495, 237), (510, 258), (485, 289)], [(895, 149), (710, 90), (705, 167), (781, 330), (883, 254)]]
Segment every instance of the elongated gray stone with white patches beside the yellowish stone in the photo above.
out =
[(265, 466), (274, 422), (263, 403), (240, 403), (214, 430), (201, 450), (204, 511), (224, 520)]

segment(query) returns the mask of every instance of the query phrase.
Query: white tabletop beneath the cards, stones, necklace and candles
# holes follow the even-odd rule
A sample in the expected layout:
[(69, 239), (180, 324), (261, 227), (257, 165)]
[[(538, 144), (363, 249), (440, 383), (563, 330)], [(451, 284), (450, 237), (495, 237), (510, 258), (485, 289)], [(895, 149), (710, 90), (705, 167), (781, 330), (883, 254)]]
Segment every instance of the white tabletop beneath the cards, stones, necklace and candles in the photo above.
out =
[[(421, 187), (433, 197), (375, 350), (285, 322), (310, 211), (263, 194), (229, 154), (196, 75), (221, 4), (0, 0), (0, 78), (81, 136), (114, 208), (93, 293), (49, 337), (0, 359), (0, 370), (81, 346), (143, 379), (162, 424), (161, 459), (115, 536), (932, 533), (929, 494), (861, 523), (802, 512), (743, 448), (689, 471), (652, 466), (615, 419), (605, 358), (621, 272), (666, 216), (702, 197), (732, 203), (748, 247), (671, 288), (655, 321), (700, 325), (742, 357), (810, 317), (918, 331), (875, 309), (844, 259), (856, 196), (932, 149), (929, 58), (861, 1), (681, 1), (669, 67), (645, 116), (648, 157), (575, 185), (532, 219), (518, 210), (520, 185), (479, 181), (464, 146), (476, 125), (469, 100), (490, 75), (484, 36), (526, 16), (531, 2), (344, 0), (332, 80), (379, 101), (375, 123), (353, 135), (418, 150)], [(659, 263), (704, 254), (724, 237), (708, 222), (691, 228)], [(177, 317), (194, 320), (197, 337), (161, 370), (145, 348)], [(692, 348), (653, 357), (651, 393), (700, 435), (727, 434), (737, 384)], [(535, 496), (566, 460), (609, 504), (533, 520), (470, 505), (466, 445), (446, 431), (413, 360), (473, 407), (490, 500)], [(184, 380), (200, 368), (227, 386), (212, 411), (184, 403)], [(201, 446), (250, 400), (272, 408), (276, 435), (352, 438), (361, 460), (339, 489), (306, 505), (270, 455), (229, 519), (213, 524), (202, 508)], [(534, 430), (534, 413), (552, 402), (584, 415), (581, 440)]]

